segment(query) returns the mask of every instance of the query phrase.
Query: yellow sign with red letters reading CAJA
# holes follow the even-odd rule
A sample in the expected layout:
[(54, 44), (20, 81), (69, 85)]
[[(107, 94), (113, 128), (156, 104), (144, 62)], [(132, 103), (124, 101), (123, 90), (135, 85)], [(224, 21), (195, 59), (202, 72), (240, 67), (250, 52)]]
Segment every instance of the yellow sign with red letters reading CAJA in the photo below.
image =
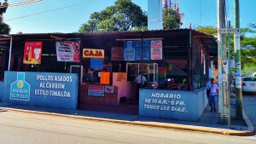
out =
[(84, 58), (104, 58), (104, 49), (83, 49)]

